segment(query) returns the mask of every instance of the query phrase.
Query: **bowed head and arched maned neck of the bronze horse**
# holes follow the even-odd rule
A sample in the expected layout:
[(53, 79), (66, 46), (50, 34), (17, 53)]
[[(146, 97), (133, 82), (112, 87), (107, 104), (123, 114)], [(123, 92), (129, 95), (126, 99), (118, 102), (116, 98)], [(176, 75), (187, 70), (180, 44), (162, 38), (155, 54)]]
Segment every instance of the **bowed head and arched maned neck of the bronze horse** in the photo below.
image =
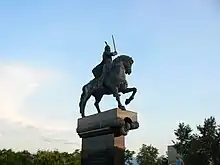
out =
[(118, 64), (118, 63), (122, 63), (124, 68), (125, 68), (125, 73), (126, 74), (131, 74), (132, 72), (132, 64), (134, 63), (134, 60), (127, 55), (120, 55), (117, 58), (115, 58), (113, 60), (113, 64)]

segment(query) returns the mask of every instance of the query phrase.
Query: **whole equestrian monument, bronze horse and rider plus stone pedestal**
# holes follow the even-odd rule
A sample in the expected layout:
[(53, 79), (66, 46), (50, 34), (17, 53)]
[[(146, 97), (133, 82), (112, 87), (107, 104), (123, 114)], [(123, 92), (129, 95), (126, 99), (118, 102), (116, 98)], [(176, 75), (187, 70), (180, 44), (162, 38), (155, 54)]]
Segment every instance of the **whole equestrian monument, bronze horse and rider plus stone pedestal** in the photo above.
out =
[[(119, 94), (132, 92), (126, 105), (134, 99), (137, 89), (128, 88), (126, 81), (134, 61), (127, 55), (112, 60), (118, 54), (113, 36), (112, 39), (115, 51), (111, 52), (105, 42), (103, 60), (92, 70), (94, 79), (82, 88), (79, 103), (82, 118), (77, 124), (77, 133), (82, 138), (81, 165), (124, 165), (125, 136), (139, 127), (137, 113), (126, 110)], [(99, 102), (104, 95), (113, 95), (118, 107), (101, 112)], [(86, 102), (91, 96), (95, 98), (98, 113), (85, 116)]]

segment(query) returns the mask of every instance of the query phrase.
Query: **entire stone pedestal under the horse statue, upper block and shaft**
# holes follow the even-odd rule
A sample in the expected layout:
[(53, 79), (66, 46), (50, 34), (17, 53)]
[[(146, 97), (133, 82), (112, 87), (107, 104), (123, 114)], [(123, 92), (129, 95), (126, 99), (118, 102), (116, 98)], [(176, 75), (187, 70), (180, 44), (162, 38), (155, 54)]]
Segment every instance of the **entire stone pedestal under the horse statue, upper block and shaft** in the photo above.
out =
[(81, 165), (124, 165), (125, 136), (138, 127), (137, 113), (117, 108), (78, 119)]

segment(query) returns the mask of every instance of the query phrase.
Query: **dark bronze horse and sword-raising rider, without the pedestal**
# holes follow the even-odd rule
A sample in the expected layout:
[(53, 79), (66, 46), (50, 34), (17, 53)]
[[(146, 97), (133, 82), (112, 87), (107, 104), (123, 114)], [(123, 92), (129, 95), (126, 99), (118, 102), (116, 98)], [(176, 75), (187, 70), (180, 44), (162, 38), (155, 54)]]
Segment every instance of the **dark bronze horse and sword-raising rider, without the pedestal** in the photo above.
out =
[[(82, 88), (79, 103), (82, 117), (85, 117), (86, 102), (91, 96), (95, 97), (94, 105), (98, 113), (100, 113), (101, 110), (99, 108), (99, 102), (101, 101), (103, 95), (113, 94), (118, 102), (118, 108), (126, 110), (120, 101), (119, 93), (121, 92), (125, 94), (132, 92), (132, 95), (125, 101), (125, 104), (127, 105), (134, 99), (137, 92), (135, 87), (128, 88), (128, 83), (126, 81), (126, 74), (129, 75), (132, 72), (132, 65), (134, 63), (133, 59), (127, 55), (120, 55), (112, 61), (112, 56), (117, 55), (117, 51), (115, 49), (114, 52), (111, 52), (110, 46), (107, 42), (105, 42), (105, 44), (106, 46), (103, 53), (103, 60), (92, 70), (95, 78)], [(113, 44), (115, 48), (114, 38)]]

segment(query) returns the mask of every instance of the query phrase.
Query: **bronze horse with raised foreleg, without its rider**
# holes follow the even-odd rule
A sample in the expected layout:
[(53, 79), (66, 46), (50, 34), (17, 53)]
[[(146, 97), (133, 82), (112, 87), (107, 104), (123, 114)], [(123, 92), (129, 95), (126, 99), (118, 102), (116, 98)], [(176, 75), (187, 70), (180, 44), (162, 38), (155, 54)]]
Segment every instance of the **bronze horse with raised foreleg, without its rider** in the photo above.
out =
[[(126, 105), (128, 105), (134, 99), (137, 88), (128, 88), (128, 83), (126, 81), (126, 74), (131, 74), (133, 63), (134, 61), (131, 57), (127, 55), (120, 55), (112, 61), (111, 69), (104, 77), (103, 81), (100, 82), (99, 77), (96, 77), (82, 87), (82, 94), (79, 102), (82, 117), (85, 117), (85, 106), (91, 96), (95, 98), (94, 106), (96, 107), (98, 113), (101, 112), (99, 103), (102, 97), (104, 95), (111, 94), (113, 94), (113, 96), (116, 98), (118, 108), (121, 110), (126, 110), (125, 106), (123, 106), (120, 101), (119, 93), (125, 94), (132, 92), (131, 96), (125, 101)], [(97, 70), (97, 73), (100, 73), (100, 71), (101, 70)]]

